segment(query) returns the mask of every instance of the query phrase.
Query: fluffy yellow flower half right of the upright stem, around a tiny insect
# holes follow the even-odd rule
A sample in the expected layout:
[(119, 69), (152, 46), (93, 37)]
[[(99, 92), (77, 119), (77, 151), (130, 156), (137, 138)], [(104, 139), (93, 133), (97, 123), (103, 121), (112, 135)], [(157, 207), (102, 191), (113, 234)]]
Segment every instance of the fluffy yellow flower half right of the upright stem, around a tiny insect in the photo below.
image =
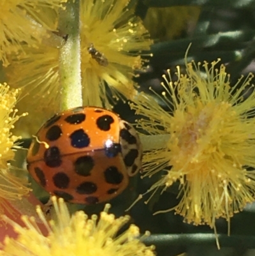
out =
[[(150, 50), (152, 40), (128, 4), (129, 0), (81, 1), (82, 84), (87, 105), (108, 105), (105, 82), (113, 97), (135, 95), (131, 79), (142, 68), (140, 54)], [(100, 64), (89, 53), (91, 44), (108, 64)]]

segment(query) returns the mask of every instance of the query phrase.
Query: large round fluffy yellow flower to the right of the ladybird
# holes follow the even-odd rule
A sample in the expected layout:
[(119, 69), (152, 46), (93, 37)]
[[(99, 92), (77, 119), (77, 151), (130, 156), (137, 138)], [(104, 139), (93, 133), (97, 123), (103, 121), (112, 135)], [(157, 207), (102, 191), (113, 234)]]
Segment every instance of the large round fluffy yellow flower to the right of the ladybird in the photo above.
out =
[[(187, 75), (177, 73), (173, 82), (164, 77), (161, 100), (140, 94), (132, 104), (138, 124), (152, 135), (168, 134), (164, 147), (143, 156), (144, 176), (162, 171), (150, 191), (166, 190), (180, 182), (180, 202), (175, 211), (195, 225), (226, 218), (254, 202), (255, 171), (255, 91), (253, 75), (230, 86), (225, 66), (218, 61), (187, 64)], [(179, 69), (178, 69), (179, 70)], [(202, 73), (203, 72), (203, 73)], [(171, 167), (171, 168), (170, 168)], [(161, 212), (170, 211), (165, 210)]]

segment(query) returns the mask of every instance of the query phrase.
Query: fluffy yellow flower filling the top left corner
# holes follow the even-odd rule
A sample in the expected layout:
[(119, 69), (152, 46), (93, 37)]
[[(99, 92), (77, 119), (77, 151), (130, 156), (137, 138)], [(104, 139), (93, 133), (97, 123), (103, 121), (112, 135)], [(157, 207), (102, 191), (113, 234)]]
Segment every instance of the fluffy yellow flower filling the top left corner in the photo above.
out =
[(9, 64), (6, 54), (18, 52), (21, 45), (34, 46), (47, 36), (46, 29), (55, 29), (43, 10), (59, 8), (66, 0), (1, 0), (0, 1), (0, 60)]

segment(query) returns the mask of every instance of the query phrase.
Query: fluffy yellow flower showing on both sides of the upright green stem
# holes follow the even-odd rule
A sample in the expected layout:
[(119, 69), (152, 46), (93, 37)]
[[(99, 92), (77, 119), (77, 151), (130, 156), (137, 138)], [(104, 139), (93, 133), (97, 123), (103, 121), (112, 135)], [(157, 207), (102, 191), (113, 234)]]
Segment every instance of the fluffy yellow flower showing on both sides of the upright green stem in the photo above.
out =
[[(84, 105), (110, 107), (105, 82), (113, 96), (131, 98), (135, 94), (132, 78), (136, 69), (142, 69), (141, 51), (149, 50), (152, 40), (141, 20), (128, 10), (128, 3), (129, 0), (80, 1)], [(51, 116), (52, 103), (59, 108), (61, 95), (59, 49), (43, 44), (36, 49), (25, 47), (19, 56), (10, 56), (10, 63), (6, 69), (8, 83), (11, 87), (24, 87), (24, 94), (30, 95), (29, 100), (20, 101), (20, 105), (24, 104), (22, 109), (36, 109), (38, 115), (38, 105), (50, 106), (51, 113), (45, 113), (47, 118)]]

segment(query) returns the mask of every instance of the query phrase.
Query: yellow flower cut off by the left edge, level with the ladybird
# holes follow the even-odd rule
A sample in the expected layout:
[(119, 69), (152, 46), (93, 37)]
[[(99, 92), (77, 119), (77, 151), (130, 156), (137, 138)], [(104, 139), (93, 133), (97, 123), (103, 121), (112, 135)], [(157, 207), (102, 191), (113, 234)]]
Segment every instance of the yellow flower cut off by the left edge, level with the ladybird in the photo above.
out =
[(14, 109), (19, 90), (10, 90), (7, 84), (0, 84), (0, 212), (6, 206), (6, 200), (15, 200), (25, 195), (29, 190), (25, 188), (25, 181), (15, 177), (11, 172), (10, 161), (14, 158), (15, 148), (18, 147), (16, 137), (11, 129), (14, 123), (27, 113), (17, 115)]

